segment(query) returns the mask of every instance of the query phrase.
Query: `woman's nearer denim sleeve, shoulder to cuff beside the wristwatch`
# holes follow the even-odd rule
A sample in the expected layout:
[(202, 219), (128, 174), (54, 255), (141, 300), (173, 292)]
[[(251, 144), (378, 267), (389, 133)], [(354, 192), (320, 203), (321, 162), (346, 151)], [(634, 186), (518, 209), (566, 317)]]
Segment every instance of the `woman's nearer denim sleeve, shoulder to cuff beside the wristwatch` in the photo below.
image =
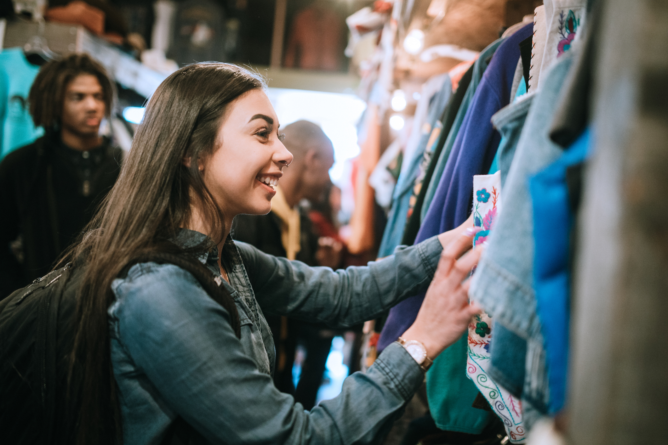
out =
[[(134, 362), (132, 373), (145, 374), (160, 403), (210, 443), (373, 443), (424, 378), (409, 354), (393, 344), (366, 374), (349, 376), (337, 398), (307, 412), (257, 370), (234, 336), (227, 312), (188, 272), (173, 265), (140, 269), (114, 282), (112, 338)], [(114, 372), (117, 380), (127, 377), (116, 362)], [(132, 400), (122, 404), (132, 409)]]

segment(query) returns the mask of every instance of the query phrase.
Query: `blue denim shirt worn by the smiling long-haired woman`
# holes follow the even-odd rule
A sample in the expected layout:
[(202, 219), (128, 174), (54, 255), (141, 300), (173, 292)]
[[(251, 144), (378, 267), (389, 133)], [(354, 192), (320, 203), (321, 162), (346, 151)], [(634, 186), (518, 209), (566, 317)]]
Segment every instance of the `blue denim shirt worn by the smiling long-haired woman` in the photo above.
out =
[[(205, 236), (181, 230), (184, 247)], [(310, 412), (272, 380), (275, 350), (264, 314), (289, 315), (335, 328), (355, 326), (425, 290), (442, 247), (436, 237), (364, 267), (333, 271), (277, 258), (228, 238), (222, 266), (241, 323), (185, 270), (133, 266), (112, 283), (108, 310), (114, 376), (126, 445), (158, 444), (182, 416), (212, 444), (367, 444), (387, 434), (424, 380), (399, 344), (365, 374), (349, 376), (341, 394)], [(199, 260), (220, 280), (214, 248)]]

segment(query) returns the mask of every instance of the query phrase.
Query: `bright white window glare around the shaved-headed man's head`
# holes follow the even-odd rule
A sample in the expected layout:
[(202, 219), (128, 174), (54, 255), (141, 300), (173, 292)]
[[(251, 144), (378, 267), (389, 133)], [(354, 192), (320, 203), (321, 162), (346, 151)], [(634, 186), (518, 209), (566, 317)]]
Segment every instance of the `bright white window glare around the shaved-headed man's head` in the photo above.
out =
[(341, 183), (345, 161), (359, 155), (356, 125), (366, 108), (365, 101), (353, 94), (303, 89), (269, 88), (268, 95), (281, 127), (300, 119), (322, 127), (334, 146), (329, 177), (333, 183)]

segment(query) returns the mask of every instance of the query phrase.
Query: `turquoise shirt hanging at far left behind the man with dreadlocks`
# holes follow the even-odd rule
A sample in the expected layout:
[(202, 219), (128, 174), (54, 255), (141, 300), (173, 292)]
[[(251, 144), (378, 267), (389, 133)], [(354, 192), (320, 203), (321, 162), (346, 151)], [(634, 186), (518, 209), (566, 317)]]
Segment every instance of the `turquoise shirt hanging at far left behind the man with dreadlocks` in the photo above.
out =
[(22, 48), (0, 52), (0, 161), (44, 134), (42, 127), (35, 127), (28, 107), (28, 93), (38, 72)]

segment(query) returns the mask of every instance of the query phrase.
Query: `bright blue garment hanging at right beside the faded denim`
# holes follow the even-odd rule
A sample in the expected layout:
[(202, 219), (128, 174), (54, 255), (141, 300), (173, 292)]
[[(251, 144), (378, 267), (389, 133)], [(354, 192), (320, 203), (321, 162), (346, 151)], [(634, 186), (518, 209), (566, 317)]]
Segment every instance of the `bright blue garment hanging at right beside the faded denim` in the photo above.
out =
[(586, 129), (561, 157), (529, 179), (536, 243), (536, 312), (540, 318), (547, 354), (550, 414), (555, 414), (564, 406), (568, 371), (568, 261), (574, 215), (570, 208), (566, 170), (571, 165), (585, 161), (590, 146), (590, 131)]

